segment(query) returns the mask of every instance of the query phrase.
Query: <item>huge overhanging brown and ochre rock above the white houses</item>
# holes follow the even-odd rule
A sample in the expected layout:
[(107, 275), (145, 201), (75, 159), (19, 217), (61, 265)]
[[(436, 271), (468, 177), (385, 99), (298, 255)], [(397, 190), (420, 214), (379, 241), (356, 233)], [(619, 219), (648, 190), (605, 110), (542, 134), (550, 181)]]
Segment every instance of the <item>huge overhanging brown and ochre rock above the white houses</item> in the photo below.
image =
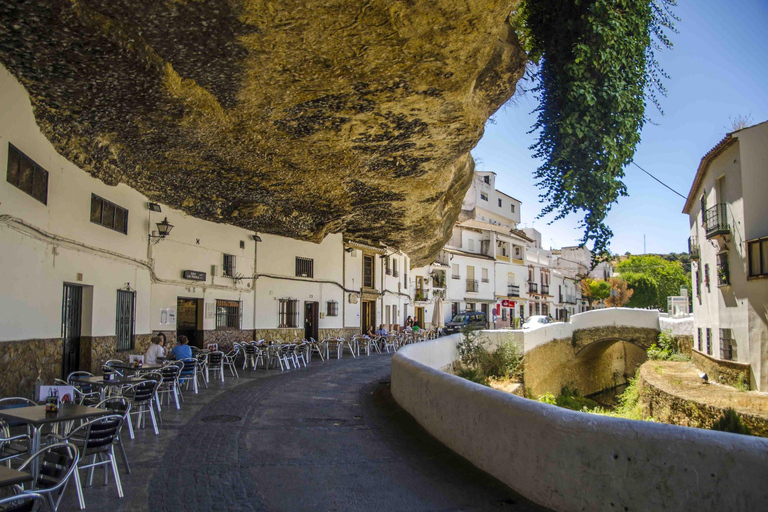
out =
[(0, 62), (105, 183), (196, 217), (400, 248), (450, 235), (514, 92), (518, 0), (9, 0)]

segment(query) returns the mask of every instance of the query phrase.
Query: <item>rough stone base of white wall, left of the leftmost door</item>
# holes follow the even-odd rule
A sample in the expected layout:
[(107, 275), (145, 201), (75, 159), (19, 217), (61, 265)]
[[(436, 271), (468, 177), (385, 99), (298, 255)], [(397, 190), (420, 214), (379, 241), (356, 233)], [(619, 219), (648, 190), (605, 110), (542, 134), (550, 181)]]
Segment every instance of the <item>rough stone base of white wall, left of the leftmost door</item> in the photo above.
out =
[(35, 382), (61, 377), (61, 338), (0, 342), (0, 397), (33, 398)]

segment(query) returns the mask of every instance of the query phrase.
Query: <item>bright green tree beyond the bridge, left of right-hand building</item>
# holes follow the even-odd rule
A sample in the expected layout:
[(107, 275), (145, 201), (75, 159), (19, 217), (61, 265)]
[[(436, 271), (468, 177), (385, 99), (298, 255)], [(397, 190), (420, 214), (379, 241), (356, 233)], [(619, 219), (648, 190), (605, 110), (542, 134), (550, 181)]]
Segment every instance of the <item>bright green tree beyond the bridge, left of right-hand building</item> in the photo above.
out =
[[(620, 262), (616, 270), (633, 290), (633, 279), (641, 285), (639, 291), (635, 292), (639, 298), (633, 296), (629, 301), (630, 307), (654, 307), (666, 311), (667, 297), (679, 295), (681, 287), (689, 286), (689, 278), (683, 270), (683, 265), (679, 261), (667, 261), (661, 256), (630, 256)], [(645, 276), (642, 282), (637, 277), (638, 274)], [(656, 296), (652, 299), (647, 297), (649, 282), (655, 283), (656, 287)]]

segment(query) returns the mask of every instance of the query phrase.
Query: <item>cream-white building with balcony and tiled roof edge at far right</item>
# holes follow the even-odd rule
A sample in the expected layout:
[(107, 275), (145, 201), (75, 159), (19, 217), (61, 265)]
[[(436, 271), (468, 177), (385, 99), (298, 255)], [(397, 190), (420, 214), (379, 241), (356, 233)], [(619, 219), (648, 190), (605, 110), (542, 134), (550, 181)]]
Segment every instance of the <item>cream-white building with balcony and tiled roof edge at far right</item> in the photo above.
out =
[[(683, 213), (691, 226), (694, 349), (749, 365), (768, 389), (768, 122), (728, 134), (702, 159)], [(723, 363), (728, 361), (728, 363)]]

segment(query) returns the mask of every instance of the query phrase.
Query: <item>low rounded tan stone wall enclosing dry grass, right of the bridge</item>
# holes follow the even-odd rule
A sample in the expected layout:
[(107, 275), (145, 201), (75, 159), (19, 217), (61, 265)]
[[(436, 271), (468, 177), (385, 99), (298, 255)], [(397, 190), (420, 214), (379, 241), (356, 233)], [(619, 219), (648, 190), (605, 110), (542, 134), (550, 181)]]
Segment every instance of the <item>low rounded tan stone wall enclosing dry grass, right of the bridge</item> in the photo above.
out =
[[(660, 363), (649, 361), (640, 367), (640, 403), (643, 413), (661, 423), (710, 429), (723, 416), (728, 407), (733, 407), (741, 418), (742, 423), (749, 427), (753, 435), (768, 437), (768, 411), (765, 409), (763, 397), (753, 397), (750, 393), (738, 393), (740, 400), (728, 396), (719, 399), (718, 404), (706, 403), (703, 400), (714, 401), (718, 389), (728, 390), (724, 386), (709, 384), (713, 393), (703, 393), (702, 400), (696, 400), (690, 394), (694, 384), (680, 377), (672, 377), (670, 365), (688, 365), (689, 363)], [(694, 368), (691, 367), (691, 372)], [(743, 402), (743, 403), (739, 403)], [(765, 412), (760, 413), (758, 410)], [(753, 411), (753, 412), (751, 412)]]

